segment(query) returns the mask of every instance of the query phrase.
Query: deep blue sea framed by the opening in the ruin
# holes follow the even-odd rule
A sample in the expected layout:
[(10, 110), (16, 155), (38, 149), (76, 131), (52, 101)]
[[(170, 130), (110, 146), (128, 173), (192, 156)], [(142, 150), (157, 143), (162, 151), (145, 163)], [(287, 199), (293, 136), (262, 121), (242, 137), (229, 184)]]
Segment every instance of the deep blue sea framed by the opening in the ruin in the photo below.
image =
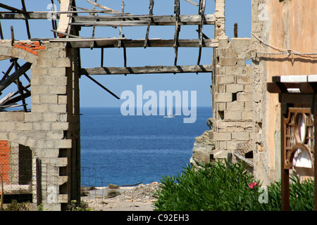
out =
[[(81, 108), (82, 186), (160, 182), (189, 164), (195, 137), (209, 129), (211, 107), (198, 107), (197, 120), (183, 116), (127, 115), (120, 108)], [(174, 111), (175, 112), (175, 111)]]

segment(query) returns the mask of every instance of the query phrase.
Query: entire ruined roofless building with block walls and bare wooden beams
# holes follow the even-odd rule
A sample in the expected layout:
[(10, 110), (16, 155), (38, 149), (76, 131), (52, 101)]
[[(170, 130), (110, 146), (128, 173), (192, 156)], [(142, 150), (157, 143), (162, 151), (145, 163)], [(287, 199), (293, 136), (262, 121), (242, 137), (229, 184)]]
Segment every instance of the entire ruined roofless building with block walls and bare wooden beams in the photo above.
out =
[[(212, 15), (204, 13), (206, 0), (199, 4), (186, 1), (199, 6), (198, 15), (180, 15), (179, 0), (175, 0), (175, 15), (156, 17), (151, 0), (149, 14), (140, 17), (93, 1), (92, 4), (101, 10), (84, 9), (90, 14), (81, 16), (79, 1), (76, 6), (74, 0), (61, 0), (57, 18), (52, 18), (54, 38), (34, 39), (29, 34), (29, 39), (22, 41), (14, 39), (13, 30), (11, 39), (4, 39), (1, 34), (0, 59), (10, 60), (11, 67), (0, 81), (0, 92), (12, 83), (18, 87), (16, 93), (0, 98), (0, 172), (7, 195), (25, 195), (30, 203), (44, 205), (49, 210), (65, 210), (71, 200), (80, 200), (80, 75), (92, 79), (90, 75), (209, 72), (213, 98), (211, 131), (205, 144), (194, 147), (192, 162), (199, 164), (214, 158), (228, 158), (229, 154), (235, 160), (249, 163), (263, 184), (280, 179), (281, 114), (287, 111), (281, 105), (297, 108), (309, 105), (297, 97), (292, 100), (296, 102), (283, 103), (280, 94), (285, 90), (284, 93), (292, 93), (294, 89), (299, 94), (298, 84), (285, 82), (297, 80), (298, 77), (290, 75), (317, 75), (317, 27), (313, 23), (317, 2), (250, 0), (250, 37), (229, 39), (226, 30), (233, 27), (225, 27), (225, 0), (215, 0)], [(47, 13), (27, 12), (25, 6), (22, 10), (6, 4), (0, 7), (6, 10), (0, 12), (0, 20), (25, 20), (26, 25), (27, 20), (47, 20)], [(142, 40), (122, 36), (80, 37), (81, 26), (97, 25), (172, 25), (175, 38), (149, 39), (149, 28)], [(197, 25), (199, 38), (178, 39), (183, 25)], [(213, 26), (213, 39), (204, 36), (204, 25)], [(104, 48), (159, 46), (175, 49), (174, 65), (104, 68), (102, 61), (100, 68), (81, 68), (80, 65), (82, 48), (103, 51)], [(200, 65), (198, 59), (197, 65), (179, 66), (180, 47), (213, 48), (212, 65)], [(21, 60), (25, 62), (19, 64)], [(30, 84), (25, 86), (19, 77), (27, 77), (27, 71), (30, 71)], [(288, 78), (278, 78), (282, 76)], [(292, 90), (281, 91), (281, 82), (287, 83)], [(307, 89), (311, 91), (313, 87)], [(313, 91), (309, 93), (312, 96)], [(30, 98), (31, 108), (26, 106), (27, 98)], [(10, 111), (9, 107), (18, 102), (22, 102), (23, 110)]]

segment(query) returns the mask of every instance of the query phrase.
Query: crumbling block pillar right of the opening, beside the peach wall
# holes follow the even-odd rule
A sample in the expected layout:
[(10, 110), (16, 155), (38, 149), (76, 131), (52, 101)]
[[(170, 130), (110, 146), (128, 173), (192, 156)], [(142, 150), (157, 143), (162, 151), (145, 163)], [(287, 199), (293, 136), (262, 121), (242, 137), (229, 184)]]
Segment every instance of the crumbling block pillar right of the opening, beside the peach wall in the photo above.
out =
[(213, 53), (213, 157), (227, 158), (228, 153), (253, 150), (256, 93), (252, 66), (246, 63), (251, 58), (251, 39), (218, 40)]

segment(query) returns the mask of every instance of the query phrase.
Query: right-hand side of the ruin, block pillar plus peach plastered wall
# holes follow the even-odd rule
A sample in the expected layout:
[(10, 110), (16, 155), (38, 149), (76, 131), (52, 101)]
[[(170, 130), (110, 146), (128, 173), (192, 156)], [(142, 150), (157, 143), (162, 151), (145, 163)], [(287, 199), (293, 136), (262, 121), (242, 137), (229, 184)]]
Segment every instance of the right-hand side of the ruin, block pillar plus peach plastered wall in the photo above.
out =
[[(311, 23), (317, 16), (316, 6), (313, 0), (252, 0), (251, 38), (228, 39), (224, 31), (220, 34), (213, 53), (213, 132), (207, 145), (201, 144), (201, 138), (197, 141), (199, 159), (228, 158), (230, 153), (247, 162), (263, 185), (281, 178), (281, 114), (287, 114), (281, 105), (304, 107), (304, 100), (292, 92), (301, 93), (295, 82), (302, 79), (307, 85), (306, 76), (316, 75), (317, 27)], [(276, 80), (282, 76), (293, 103), (282, 102), (278, 94), (282, 88), (277, 88)], [(313, 82), (311, 78), (309, 84)], [(314, 91), (306, 93), (312, 96)], [(308, 108), (313, 108), (311, 96), (302, 97), (309, 101)], [(313, 139), (313, 134), (307, 139)], [(201, 146), (207, 149), (205, 155)]]

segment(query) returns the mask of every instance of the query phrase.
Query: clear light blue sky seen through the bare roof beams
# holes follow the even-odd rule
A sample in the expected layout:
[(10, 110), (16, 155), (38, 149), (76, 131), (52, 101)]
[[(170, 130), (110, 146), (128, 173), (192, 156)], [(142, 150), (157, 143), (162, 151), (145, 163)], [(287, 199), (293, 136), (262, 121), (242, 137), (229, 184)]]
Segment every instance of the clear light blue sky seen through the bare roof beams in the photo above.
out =
[[(199, 0), (194, 0), (199, 2)], [(57, 1), (56, 5), (58, 6)], [(120, 11), (121, 0), (98, 0), (99, 4)], [(77, 0), (77, 6), (93, 8), (92, 4), (85, 0)], [(233, 25), (238, 23), (239, 37), (251, 37), (251, 0), (226, 0), (225, 16), (226, 34), (229, 38), (233, 36)], [(9, 6), (22, 8), (18, 0), (9, 1)], [(25, 1), (27, 11), (47, 11), (51, 1), (28, 0)], [(173, 0), (156, 0), (154, 4), (154, 15), (173, 15)], [(99, 9), (99, 8), (97, 8)], [(4, 10), (1, 10), (4, 11)], [(214, 1), (206, 1), (206, 14), (214, 13)], [(142, 15), (149, 13), (149, 0), (125, 0), (125, 12)], [(185, 15), (197, 14), (198, 7), (187, 1), (180, 1), (180, 13)], [(5, 39), (11, 39), (10, 25), (13, 25), (15, 39), (27, 39), (24, 21), (1, 20)], [(204, 33), (213, 38), (213, 25), (205, 25)], [(180, 39), (197, 39), (197, 26), (182, 26)], [(128, 39), (144, 39), (147, 27), (123, 27), (123, 34)], [(173, 39), (175, 27), (151, 27), (149, 38)], [(49, 20), (30, 20), (30, 32), (32, 37), (53, 37), (51, 22)], [(97, 27), (95, 37), (118, 37), (119, 28)], [(92, 37), (92, 27), (83, 27), (80, 32), (82, 37)], [(201, 64), (212, 63), (213, 49), (203, 49)], [(198, 49), (180, 48), (178, 50), (178, 65), (195, 65), (197, 63)], [(82, 49), (82, 68), (94, 68), (100, 66), (100, 49)], [(6, 71), (8, 60), (0, 61), (1, 71)], [(144, 65), (173, 65), (173, 48), (133, 48), (127, 49), (128, 66)], [(123, 49), (104, 49), (104, 66), (123, 67)], [(143, 86), (143, 91), (197, 91), (197, 106), (211, 106), (211, 74), (196, 73), (178, 75), (96, 75), (93, 76), (98, 82), (113, 91), (117, 96), (125, 90), (136, 93), (137, 85)], [(15, 91), (15, 86), (12, 87)], [(9, 90), (8, 90), (9, 91)], [(4, 91), (6, 94), (6, 91)], [(0, 98), (4, 97), (4, 94)], [(80, 79), (80, 105), (81, 107), (119, 107), (123, 101), (118, 100), (94, 84), (90, 79), (82, 76)]]

